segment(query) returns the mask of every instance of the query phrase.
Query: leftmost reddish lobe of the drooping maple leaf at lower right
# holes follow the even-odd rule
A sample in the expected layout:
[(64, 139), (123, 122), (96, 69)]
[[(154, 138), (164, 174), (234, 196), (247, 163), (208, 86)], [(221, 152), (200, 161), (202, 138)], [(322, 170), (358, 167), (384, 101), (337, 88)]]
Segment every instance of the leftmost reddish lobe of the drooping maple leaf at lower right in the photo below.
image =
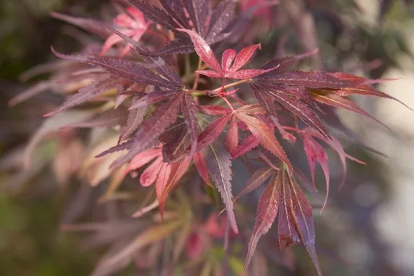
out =
[(278, 175), (271, 179), (265, 192), (259, 199), (256, 224), (254, 224), (253, 232), (251, 233), (245, 268), (243, 268), (242, 275), (247, 273), (247, 268), (249, 267), (251, 257), (253, 257), (253, 253), (256, 250), (258, 240), (262, 235), (265, 235), (267, 231), (269, 231), (273, 221), (276, 219), (276, 215), (278, 215), (282, 173), (283, 172), (278, 172)]

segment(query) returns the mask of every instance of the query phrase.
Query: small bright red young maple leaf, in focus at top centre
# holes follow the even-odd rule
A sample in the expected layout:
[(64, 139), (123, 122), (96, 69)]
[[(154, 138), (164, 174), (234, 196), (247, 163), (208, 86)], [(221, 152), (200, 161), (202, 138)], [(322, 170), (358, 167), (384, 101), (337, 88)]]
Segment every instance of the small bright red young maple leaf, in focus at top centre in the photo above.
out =
[(199, 34), (192, 30), (178, 29), (181, 32), (186, 32), (192, 39), (194, 48), (197, 52), (198, 57), (203, 60), (213, 70), (197, 70), (201, 75), (207, 77), (218, 77), (218, 78), (231, 78), (231, 79), (250, 79), (259, 75), (265, 74), (272, 70), (275, 70), (279, 65), (273, 66), (267, 69), (243, 69), (247, 61), (251, 58), (253, 53), (259, 48), (260, 44), (248, 46), (240, 50), (236, 55), (236, 51), (233, 49), (227, 49), (222, 54), (221, 66), (218, 63), (214, 52), (211, 50), (209, 44), (200, 37)]

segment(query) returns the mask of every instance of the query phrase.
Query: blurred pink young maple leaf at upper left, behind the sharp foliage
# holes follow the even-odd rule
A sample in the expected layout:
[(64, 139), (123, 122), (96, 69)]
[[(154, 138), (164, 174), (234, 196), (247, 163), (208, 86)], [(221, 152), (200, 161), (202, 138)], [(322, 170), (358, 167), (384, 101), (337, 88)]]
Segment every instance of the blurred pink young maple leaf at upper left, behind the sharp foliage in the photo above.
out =
[[(134, 7), (128, 7), (126, 13), (118, 14), (118, 16), (114, 18), (114, 25), (121, 28), (119, 31), (134, 41), (140, 41), (150, 24), (151, 23), (148, 21), (145, 21), (144, 14)], [(105, 55), (107, 50), (116, 43), (122, 41), (123, 38), (119, 37), (118, 34), (111, 34), (106, 39), (105, 44), (103, 44), (101, 56)], [(130, 43), (127, 43), (127, 46), (121, 51), (121, 57), (127, 55), (128, 52), (130, 52)]]

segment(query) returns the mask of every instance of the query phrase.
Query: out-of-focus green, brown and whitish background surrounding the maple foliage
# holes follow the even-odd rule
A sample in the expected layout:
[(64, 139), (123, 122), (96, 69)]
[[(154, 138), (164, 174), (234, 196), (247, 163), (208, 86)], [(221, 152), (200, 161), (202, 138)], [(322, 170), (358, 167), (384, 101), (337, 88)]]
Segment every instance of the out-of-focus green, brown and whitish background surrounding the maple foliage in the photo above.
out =
[[(284, 54), (316, 46), (320, 55), (313, 58), (312, 68), (397, 78), (382, 83), (381, 90), (414, 108), (413, 2), (282, 3), (272, 11), (271, 28), (262, 34), (262, 45)], [(89, 214), (105, 210), (111, 216), (116, 215), (116, 207), (112, 202), (94, 204), (101, 192), (76, 177), (62, 180), (64, 172), (56, 165), (56, 139), (46, 139), (37, 148), (32, 166), (22, 168), (25, 144), (41, 125), (41, 115), (61, 103), (61, 96), (45, 92), (13, 108), (8, 101), (33, 83), (23, 81), (23, 72), (56, 59), (50, 45), (59, 44), (69, 52), (78, 50), (87, 37), (52, 19), (51, 11), (110, 18), (110, 7), (96, 0), (0, 1), (1, 275), (88, 275), (103, 252), (88, 248), (83, 234), (65, 231), (62, 225), (87, 221), (85, 209)], [(253, 23), (256, 28), (267, 28), (260, 18)], [(346, 186), (331, 193), (332, 215), (315, 212), (322, 270), (324, 275), (414, 275), (414, 112), (396, 101), (357, 100), (392, 130), (341, 112), (360, 141), (344, 139), (346, 150), (367, 165), (349, 164)], [(338, 176), (340, 166), (332, 160), (331, 170)], [(294, 251), (294, 268), (278, 270), (278, 275), (313, 275), (304, 251)], [(129, 267), (118, 275), (134, 275), (133, 271)]]

